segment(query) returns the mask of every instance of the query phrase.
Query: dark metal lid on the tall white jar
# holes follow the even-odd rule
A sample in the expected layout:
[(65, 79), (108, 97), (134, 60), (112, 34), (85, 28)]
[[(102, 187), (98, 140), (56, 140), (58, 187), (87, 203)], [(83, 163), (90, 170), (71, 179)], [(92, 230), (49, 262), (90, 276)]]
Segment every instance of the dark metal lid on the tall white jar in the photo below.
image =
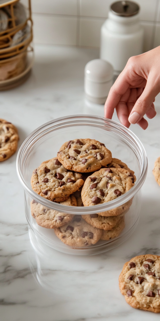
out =
[(132, 1), (117, 1), (111, 4), (110, 10), (117, 16), (131, 17), (139, 12), (140, 7)]

